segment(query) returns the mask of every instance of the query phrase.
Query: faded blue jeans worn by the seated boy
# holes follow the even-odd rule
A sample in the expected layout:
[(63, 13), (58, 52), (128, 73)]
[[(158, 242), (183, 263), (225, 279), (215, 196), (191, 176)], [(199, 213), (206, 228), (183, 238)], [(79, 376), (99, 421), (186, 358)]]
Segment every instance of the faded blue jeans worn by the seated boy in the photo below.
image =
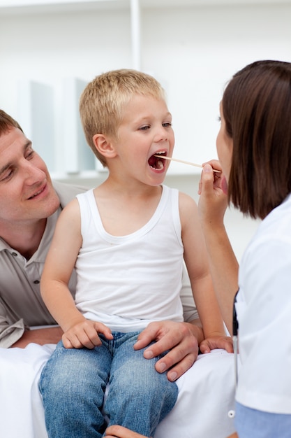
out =
[[(93, 350), (67, 349), (60, 341), (40, 376), (45, 424), (50, 438), (102, 437), (106, 424), (123, 425), (146, 437), (177, 400), (176, 383), (156, 372), (158, 358), (133, 349), (139, 332), (113, 332)], [(110, 390), (103, 406), (107, 383)]]

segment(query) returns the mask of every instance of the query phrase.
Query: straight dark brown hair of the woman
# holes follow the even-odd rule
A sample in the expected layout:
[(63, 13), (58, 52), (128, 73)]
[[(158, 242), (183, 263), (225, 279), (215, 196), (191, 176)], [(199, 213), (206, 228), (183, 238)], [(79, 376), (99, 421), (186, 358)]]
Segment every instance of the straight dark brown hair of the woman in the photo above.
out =
[(233, 141), (229, 201), (263, 219), (291, 192), (291, 64), (249, 64), (228, 83), (222, 108)]

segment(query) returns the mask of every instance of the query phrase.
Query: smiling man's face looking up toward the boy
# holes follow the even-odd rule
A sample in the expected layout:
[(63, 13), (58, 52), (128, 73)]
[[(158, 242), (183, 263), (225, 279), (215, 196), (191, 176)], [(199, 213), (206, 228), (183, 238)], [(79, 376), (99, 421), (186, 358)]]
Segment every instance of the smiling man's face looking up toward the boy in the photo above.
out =
[(35, 222), (58, 206), (45, 162), (23, 132), (11, 127), (0, 136), (0, 235), (1, 223)]

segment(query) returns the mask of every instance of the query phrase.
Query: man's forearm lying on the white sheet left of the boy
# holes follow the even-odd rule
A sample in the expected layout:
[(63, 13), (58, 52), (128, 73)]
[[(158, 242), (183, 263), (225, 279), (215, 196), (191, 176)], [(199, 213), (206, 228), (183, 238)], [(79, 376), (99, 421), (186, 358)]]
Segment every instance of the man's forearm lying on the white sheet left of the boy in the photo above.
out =
[(26, 330), (10, 348), (25, 348), (28, 344), (57, 344), (61, 340), (63, 330), (61, 327), (47, 327), (36, 330)]

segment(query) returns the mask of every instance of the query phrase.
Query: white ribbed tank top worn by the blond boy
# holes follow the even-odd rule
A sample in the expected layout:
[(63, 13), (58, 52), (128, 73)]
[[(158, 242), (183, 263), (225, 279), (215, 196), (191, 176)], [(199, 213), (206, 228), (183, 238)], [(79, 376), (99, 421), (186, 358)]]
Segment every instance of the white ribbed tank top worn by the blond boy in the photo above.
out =
[(119, 332), (143, 330), (154, 320), (182, 321), (178, 190), (163, 185), (149, 222), (126, 236), (105, 231), (93, 189), (77, 200), (83, 239), (75, 265), (77, 309)]

